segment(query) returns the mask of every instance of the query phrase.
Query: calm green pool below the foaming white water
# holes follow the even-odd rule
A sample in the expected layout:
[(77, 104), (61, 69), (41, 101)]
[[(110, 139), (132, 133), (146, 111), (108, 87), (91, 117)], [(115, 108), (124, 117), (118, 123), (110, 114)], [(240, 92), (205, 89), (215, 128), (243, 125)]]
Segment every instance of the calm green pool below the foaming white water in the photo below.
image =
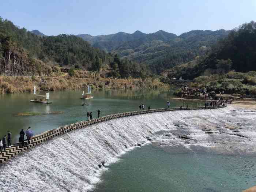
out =
[(93, 192), (241, 192), (255, 185), (255, 156), (172, 151), (151, 144), (129, 151)]

